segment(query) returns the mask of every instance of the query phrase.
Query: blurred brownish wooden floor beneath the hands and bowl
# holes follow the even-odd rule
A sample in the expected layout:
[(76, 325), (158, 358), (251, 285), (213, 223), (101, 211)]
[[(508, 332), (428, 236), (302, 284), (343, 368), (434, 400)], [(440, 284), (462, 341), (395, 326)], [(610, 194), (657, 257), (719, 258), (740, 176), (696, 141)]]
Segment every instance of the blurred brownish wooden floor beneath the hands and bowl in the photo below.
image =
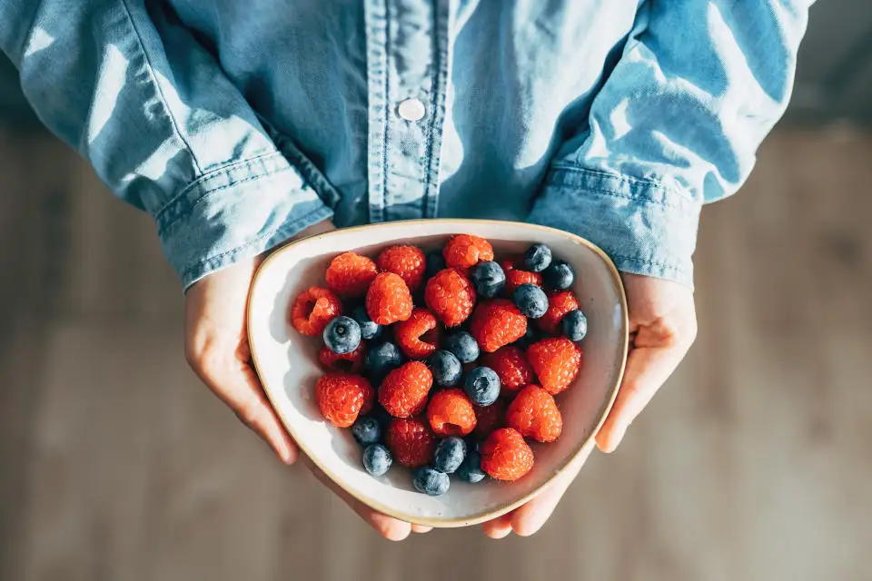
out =
[(704, 212), (697, 345), (539, 535), (391, 544), (186, 369), (151, 222), (0, 134), (0, 578), (872, 579), (870, 161), (784, 130)]

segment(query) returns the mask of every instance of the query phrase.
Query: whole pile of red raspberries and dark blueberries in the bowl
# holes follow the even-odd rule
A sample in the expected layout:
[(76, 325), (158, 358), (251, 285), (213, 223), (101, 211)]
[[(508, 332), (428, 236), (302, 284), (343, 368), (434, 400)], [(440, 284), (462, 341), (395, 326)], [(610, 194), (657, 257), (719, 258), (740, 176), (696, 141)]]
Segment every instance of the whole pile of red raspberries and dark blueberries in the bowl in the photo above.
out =
[(396, 461), (431, 496), (450, 474), (513, 481), (533, 467), (527, 439), (560, 438), (554, 396), (581, 369), (587, 319), (575, 271), (548, 246), (497, 262), (490, 242), (457, 234), (427, 255), (345, 252), (324, 280), (294, 300), (291, 322), (323, 337), (318, 406), (352, 428), (372, 476)]

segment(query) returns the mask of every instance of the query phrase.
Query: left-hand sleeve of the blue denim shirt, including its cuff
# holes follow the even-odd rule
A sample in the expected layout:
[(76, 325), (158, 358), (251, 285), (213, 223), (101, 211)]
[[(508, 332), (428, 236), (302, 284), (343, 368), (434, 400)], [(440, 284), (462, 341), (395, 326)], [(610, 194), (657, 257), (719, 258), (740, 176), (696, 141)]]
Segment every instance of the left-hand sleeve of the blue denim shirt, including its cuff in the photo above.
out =
[(0, 48), (45, 125), (154, 217), (185, 288), (332, 215), (330, 184), (166, 3), (5, 0)]

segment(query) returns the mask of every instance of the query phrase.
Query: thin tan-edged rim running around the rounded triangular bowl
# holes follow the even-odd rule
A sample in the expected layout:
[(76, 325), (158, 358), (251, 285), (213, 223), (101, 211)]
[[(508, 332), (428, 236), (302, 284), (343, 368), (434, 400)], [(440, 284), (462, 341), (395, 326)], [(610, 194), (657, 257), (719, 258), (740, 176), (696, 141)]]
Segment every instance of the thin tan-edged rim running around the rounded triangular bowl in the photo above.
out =
[[(596, 427), (590, 431), (590, 436), (588, 436), (588, 438), (585, 438), (584, 440), (582, 440), (580, 442), (580, 445), (575, 449), (574, 452), (572, 452), (570, 459), (567, 460), (566, 463), (562, 467), (560, 467), (557, 470), (554, 470), (554, 472), (550, 475), (550, 477), (546, 478), (540, 484), (540, 486), (536, 487), (535, 489), (533, 489), (532, 491), (530, 491), (528, 494), (524, 495), (523, 497), (520, 497), (516, 500), (513, 500), (509, 503), (506, 503), (500, 507), (493, 508), (493, 509), (481, 512), (480, 514), (473, 515), (471, 517), (439, 518), (439, 517), (418, 517), (415, 515), (406, 514), (400, 510), (395, 510), (391, 507), (384, 506), (380, 502), (374, 502), (369, 498), (361, 497), (351, 487), (346, 486), (346, 484), (342, 481), (341, 478), (336, 478), (336, 475), (334, 475), (330, 469), (324, 467), (324, 465), (322, 464), (322, 462), (319, 458), (317, 458), (315, 455), (312, 455), (309, 448), (307, 448), (306, 445), (302, 443), (300, 438), (296, 437), (296, 432), (295, 432), (294, 428), (292, 428), (290, 422), (288, 422), (284, 418), (284, 416), (279, 412), (279, 408), (276, 407), (275, 399), (273, 398), (271, 389), (269, 387), (267, 387), (267, 385), (263, 382), (261, 382), (261, 385), (263, 387), (263, 392), (266, 394), (266, 398), (269, 400), (270, 405), (272, 406), (272, 409), (274, 409), (276, 411), (276, 415), (279, 417), (279, 420), (282, 422), (282, 426), (284, 426), (284, 428), (286, 430), (288, 430), (288, 434), (290, 434), (291, 438), (293, 439), (293, 441), (297, 445), (297, 447), (300, 448), (302, 453), (305, 454), (306, 457), (312, 461), (312, 464), (314, 464), (314, 466), (316, 468), (320, 469), (322, 471), (322, 473), (327, 478), (330, 478), (331, 481), (336, 486), (340, 487), (346, 494), (350, 495), (351, 497), (358, 500), (359, 502), (362, 502), (365, 506), (371, 507), (373, 510), (377, 510), (378, 512), (381, 512), (382, 514), (387, 515), (388, 517), (397, 518), (399, 520), (402, 520), (402, 521), (405, 521), (405, 522), (408, 522), (411, 524), (423, 525), (423, 526), (427, 526), (427, 527), (441, 527), (441, 528), (470, 527), (472, 525), (477, 525), (479, 523), (487, 522), (487, 521), (492, 520), (494, 518), (501, 517), (502, 515), (509, 513), (510, 511), (514, 510), (515, 508), (518, 508), (522, 505), (527, 504), (531, 499), (533, 499), (534, 497), (537, 497), (545, 487), (548, 487), (550, 485), (550, 483), (554, 481), (555, 478), (558, 478), (561, 474), (563, 474), (564, 471), (566, 471), (567, 469), (575, 468), (575, 465), (579, 461), (579, 458), (581, 458), (583, 455), (585, 455), (587, 453), (587, 450), (588, 450), (588, 448), (590, 448), (590, 445), (592, 444), (594, 438), (596, 437), (596, 434), (599, 431), (599, 428), (602, 427), (603, 423), (606, 421), (606, 418), (609, 416), (609, 411), (611, 410), (612, 406), (614, 405), (615, 399), (617, 399), (617, 397), (618, 397), (618, 390), (620, 388), (620, 383), (621, 383), (621, 380), (623, 379), (624, 372), (625, 372), (626, 366), (627, 366), (627, 354), (629, 351), (629, 314), (628, 314), (628, 306), (627, 306), (627, 294), (626, 294), (626, 291), (624, 289), (623, 281), (621, 281), (620, 273), (618, 271), (618, 268), (615, 266), (615, 263), (609, 258), (609, 255), (606, 254), (605, 251), (600, 249), (599, 246), (597, 246), (593, 242), (591, 242), (585, 238), (582, 238), (581, 236), (579, 236), (577, 234), (573, 234), (572, 232), (569, 232), (569, 231), (564, 231), (564, 230), (560, 230), (557, 228), (550, 228), (549, 226), (542, 226), (540, 224), (531, 224), (528, 222), (511, 222), (511, 221), (505, 221), (505, 220), (482, 220), (482, 219), (469, 219), (469, 218), (433, 218), (433, 219), (424, 219), (424, 220), (419, 219), (419, 220), (401, 220), (401, 221), (392, 221), (392, 222), (379, 222), (379, 223), (375, 223), (375, 224), (363, 224), (361, 226), (350, 226), (347, 228), (337, 228), (336, 230), (321, 232), (318, 234), (312, 234), (312, 236), (306, 236), (306, 237), (298, 239), (298, 240), (289, 241), (289, 242), (286, 242), (284, 244), (281, 244), (281, 245), (275, 247), (274, 249), (272, 249), (272, 251), (270, 251), (269, 255), (266, 256), (266, 258), (264, 258), (263, 261), (261, 261), (261, 263), (258, 265), (256, 271), (254, 272), (254, 275), (252, 278), (252, 283), (251, 283), (251, 285), (249, 287), (249, 291), (248, 291), (248, 297), (247, 297), (246, 309), (245, 309), (245, 311), (246, 311), (245, 312), (245, 325), (246, 325), (245, 332), (246, 332), (246, 337), (247, 337), (248, 343), (249, 343), (249, 349), (251, 350), (254, 371), (255, 371), (255, 373), (257, 373), (258, 378), (260, 379), (260, 371), (259, 371), (260, 364), (257, 361), (257, 350), (254, 348), (253, 337), (252, 337), (252, 325), (251, 325), (251, 319), (253, 317), (252, 297), (254, 294), (254, 290), (257, 287), (258, 280), (259, 280), (261, 274), (263, 273), (263, 271), (265, 270), (264, 267), (267, 264), (269, 264), (269, 262), (272, 261), (272, 259), (274, 259), (280, 252), (285, 251), (285, 250), (291, 248), (292, 246), (300, 244), (304, 241), (308, 242), (308, 241), (312, 241), (313, 239), (324, 238), (326, 236), (332, 236), (333, 234), (335, 234), (339, 231), (346, 233), (348, 231), (375, 230), (375, 229), (384, 227), (385, 225), (389, 225), (389, 224), (402, 223), (402, 224), (413, 226), (417, 223), (432, 224), (434, 222), (438, 222), (438, 223), (441, 223), (443, 225), (457, 225), (459, 229), (461, 229), (463, 226), (468, 225), (468, 224), (488, 223), (488, 224), (511, 224), (512, 226), (522, 225), (525, 229), (530, 229), (533, 231), (538, 230), (538, 231), (549, 231), (552, 233), (556, 232), (556, 233), (559, 233), (561, 236), (565, 236), (565, 237), (569, 238), (570, 240), (575, 241), (576, 243), (587, 247), (588, 249), (590, 249), (590, 251), (593, 251), (594, 253), (596, 253), (599, 256), (599, 258), (606, 264), (606, 267), (608, 268), (608, 271), (609, 271), (609, 276), (611, 277), (612, 281), (614, 282), (615, 287), (618, 289), (618, 296), (619, 296), (619, 301), (620, 301), (620, 306), (621, 306), (620, 326), (621, 326), (622, 332), (620, 333), (620, 336), (622, 338), (622, 345), (621, 345), (621, 359), (619, 362), (618, 374), (615, 376), (614, 384), (609, 388), (609, 399), (599, 409), (599, 419), (597, 420)], [(461, 232), (462, 232), (462, 230), (460, 230), (458, 233), (461, 233)]]

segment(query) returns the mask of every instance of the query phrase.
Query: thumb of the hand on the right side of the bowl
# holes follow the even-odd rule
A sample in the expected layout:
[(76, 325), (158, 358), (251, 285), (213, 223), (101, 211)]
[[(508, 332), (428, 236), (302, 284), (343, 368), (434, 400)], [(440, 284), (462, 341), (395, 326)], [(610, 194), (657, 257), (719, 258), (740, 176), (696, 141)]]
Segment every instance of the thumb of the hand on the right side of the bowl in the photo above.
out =
[(613, 452), (618, 448), (629, 424), (669, 379), (687, 351), (688, 347), (675, 345), (664, 348), (638, 347), (630, 352), (618, 397), (597, 433), (599, 449)]

